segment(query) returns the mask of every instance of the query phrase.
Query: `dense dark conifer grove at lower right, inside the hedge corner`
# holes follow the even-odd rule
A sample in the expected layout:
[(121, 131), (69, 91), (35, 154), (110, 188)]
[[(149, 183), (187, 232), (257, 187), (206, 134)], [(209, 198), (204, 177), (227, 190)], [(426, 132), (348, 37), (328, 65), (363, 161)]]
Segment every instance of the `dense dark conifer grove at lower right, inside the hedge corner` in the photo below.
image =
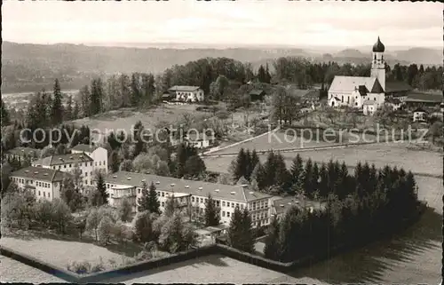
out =
[(360, 245), (392, 234), (416, 217), (420, 202), (411, 172), (385, 166), (374, 173), (358, 163), (349, 178), (356, 187), (349, 188), (345, 197), (329, 188), (324, 207), (292, 207), (280, 220), (274, 218), (266, 237), (266, 257), (289, 262), (341, 246)]

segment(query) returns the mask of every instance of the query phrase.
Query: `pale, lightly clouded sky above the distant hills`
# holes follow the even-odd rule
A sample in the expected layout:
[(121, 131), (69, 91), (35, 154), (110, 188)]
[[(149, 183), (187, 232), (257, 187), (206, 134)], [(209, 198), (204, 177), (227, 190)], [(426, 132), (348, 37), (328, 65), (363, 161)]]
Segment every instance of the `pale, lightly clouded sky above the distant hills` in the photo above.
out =
[(298, 1), (11, 1), (4, 41), (353, 47), (442, 46), (440, 3)]

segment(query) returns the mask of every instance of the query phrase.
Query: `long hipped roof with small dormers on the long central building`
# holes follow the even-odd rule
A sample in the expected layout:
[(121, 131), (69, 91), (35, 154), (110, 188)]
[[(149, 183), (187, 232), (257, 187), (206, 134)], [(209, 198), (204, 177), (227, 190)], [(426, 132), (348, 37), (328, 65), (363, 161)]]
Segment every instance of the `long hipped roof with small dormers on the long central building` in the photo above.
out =
[(143, 181), (145, 181), (148, 186), (151, 184), (151, 182), (155, 183), (156, 189), (160, 191), (174, 191), (177, 193), (187, 193), (202, 197), (207, 197), (208, 194), (211, 194), (211, 196), (215, 199), (223, 199), (234, 202), (250, 202), (270, 197), (268, 194), (250, 191), (248, 186), (232, 186), (128, 171), (119, 171), (108, 174), (105, 178), (105, 182), (108, 184), (128, 185), (135, 187), (141, 186)]

